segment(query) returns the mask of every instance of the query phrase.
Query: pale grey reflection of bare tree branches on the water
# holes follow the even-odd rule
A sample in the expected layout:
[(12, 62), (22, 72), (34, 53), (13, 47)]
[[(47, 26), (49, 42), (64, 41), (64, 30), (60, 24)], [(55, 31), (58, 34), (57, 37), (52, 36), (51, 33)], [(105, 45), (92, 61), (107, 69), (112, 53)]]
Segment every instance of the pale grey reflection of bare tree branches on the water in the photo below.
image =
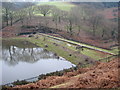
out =
[(3, 59), (9, 65), (16, 65), (20, 61), (34, 63), (39, 59), (55, 58), (54, 54), (42, 48), (18, 48), (10, 46), (9, 49), (3, 49)]

